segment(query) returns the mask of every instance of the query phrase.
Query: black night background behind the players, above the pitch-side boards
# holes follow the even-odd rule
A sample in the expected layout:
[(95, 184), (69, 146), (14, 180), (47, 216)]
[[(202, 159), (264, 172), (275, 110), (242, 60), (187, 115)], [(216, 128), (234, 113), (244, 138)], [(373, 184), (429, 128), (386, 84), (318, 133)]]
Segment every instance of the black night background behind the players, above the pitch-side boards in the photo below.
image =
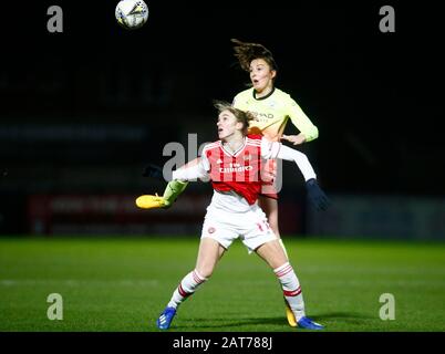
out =
[[(93, 2), (35, 1), (21, 21), (1, 21), (0, 233), (30, 232), (33, 195), (162, 192), (141, 177), (145, 164), (165, 162), (164, 145), (187, 133), (214, 140), (211, 101), (231, 101), (248, 83), (230, 38), (275, 54), (277, 86), (319, 127), (301, 150), (328, 194), (443, 200), (444, 30), (434, 2), (152, 0), (136, 31), (116, 24), (117, 1)], [(63, 33), (46, 31), (52, 4), (63, 9)], [(379, 30), (385, 4), (395, 33)], [(297, 133), (290, 123), (286, 132)], [(289, 194), (302, 188), (292, 168)]]

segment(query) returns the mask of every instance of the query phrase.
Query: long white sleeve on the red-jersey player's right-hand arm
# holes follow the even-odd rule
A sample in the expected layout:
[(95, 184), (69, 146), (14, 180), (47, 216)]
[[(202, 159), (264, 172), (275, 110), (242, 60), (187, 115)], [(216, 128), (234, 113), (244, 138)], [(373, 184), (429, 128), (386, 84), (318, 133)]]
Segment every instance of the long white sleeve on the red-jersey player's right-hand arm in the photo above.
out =
[(304, 177), (304, 180), (309, 180), (311, 178), (317, 179), (315, 171), (312, 168), (311, 163), (309, 162), (308, 157), (288, 146), (282, 145), (279, 142), (269, 142), (265, 138), (261, 139), (261, 156), (265, 159), (270, 158), (280, 158), (286, 159), (288, 162), (294, 162), (300, 168), (301, 174)]

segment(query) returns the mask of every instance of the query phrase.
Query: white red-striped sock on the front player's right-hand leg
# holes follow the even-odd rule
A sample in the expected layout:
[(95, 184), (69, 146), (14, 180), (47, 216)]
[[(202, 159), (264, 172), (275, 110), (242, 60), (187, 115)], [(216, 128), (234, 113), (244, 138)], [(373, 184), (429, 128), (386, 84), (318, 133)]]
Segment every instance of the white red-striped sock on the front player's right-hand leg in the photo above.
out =
[(273, 269), (273, 272), (281, 283), (284, 299), (288, 302), (298, 322), (301, 317), (304, 316), (304, 301), (297, 274), (289, 262), (286, 262), (281, 267)]

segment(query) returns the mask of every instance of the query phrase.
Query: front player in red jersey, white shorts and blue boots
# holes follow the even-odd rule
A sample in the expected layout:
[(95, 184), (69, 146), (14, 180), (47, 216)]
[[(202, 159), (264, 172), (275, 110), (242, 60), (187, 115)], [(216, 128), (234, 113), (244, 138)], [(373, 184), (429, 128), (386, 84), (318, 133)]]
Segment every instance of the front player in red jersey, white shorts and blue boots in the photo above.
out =
[[(169, 329), (178, 305), (208, 280), (224, 252), (234, 240), (240, 238), (249, 252), (256, 252), (276, 273), (297, 325), (322, 330), (322, 325), (306, 316), (300, 282), (265, 212), (258, 206), (263, 162), (270, 158), (294, 162), (304, 177), (312, 200), (323, 207), (328, 198), (320, 189), (304, 154), (260, 135), (247, 134), (252, 118), (250, 114), (228, 103), (217, 103), (216, 107), (219, 112), (219, 140), (205, 146), (199, 164), (173, 171), (173, 180), (209, 178), (214, 196), (203, 225), (196, 268), (179, 282), (156, 325), (161, 330)], [(144, 204), (141, 198), (144, 196), (136, 204)]]

